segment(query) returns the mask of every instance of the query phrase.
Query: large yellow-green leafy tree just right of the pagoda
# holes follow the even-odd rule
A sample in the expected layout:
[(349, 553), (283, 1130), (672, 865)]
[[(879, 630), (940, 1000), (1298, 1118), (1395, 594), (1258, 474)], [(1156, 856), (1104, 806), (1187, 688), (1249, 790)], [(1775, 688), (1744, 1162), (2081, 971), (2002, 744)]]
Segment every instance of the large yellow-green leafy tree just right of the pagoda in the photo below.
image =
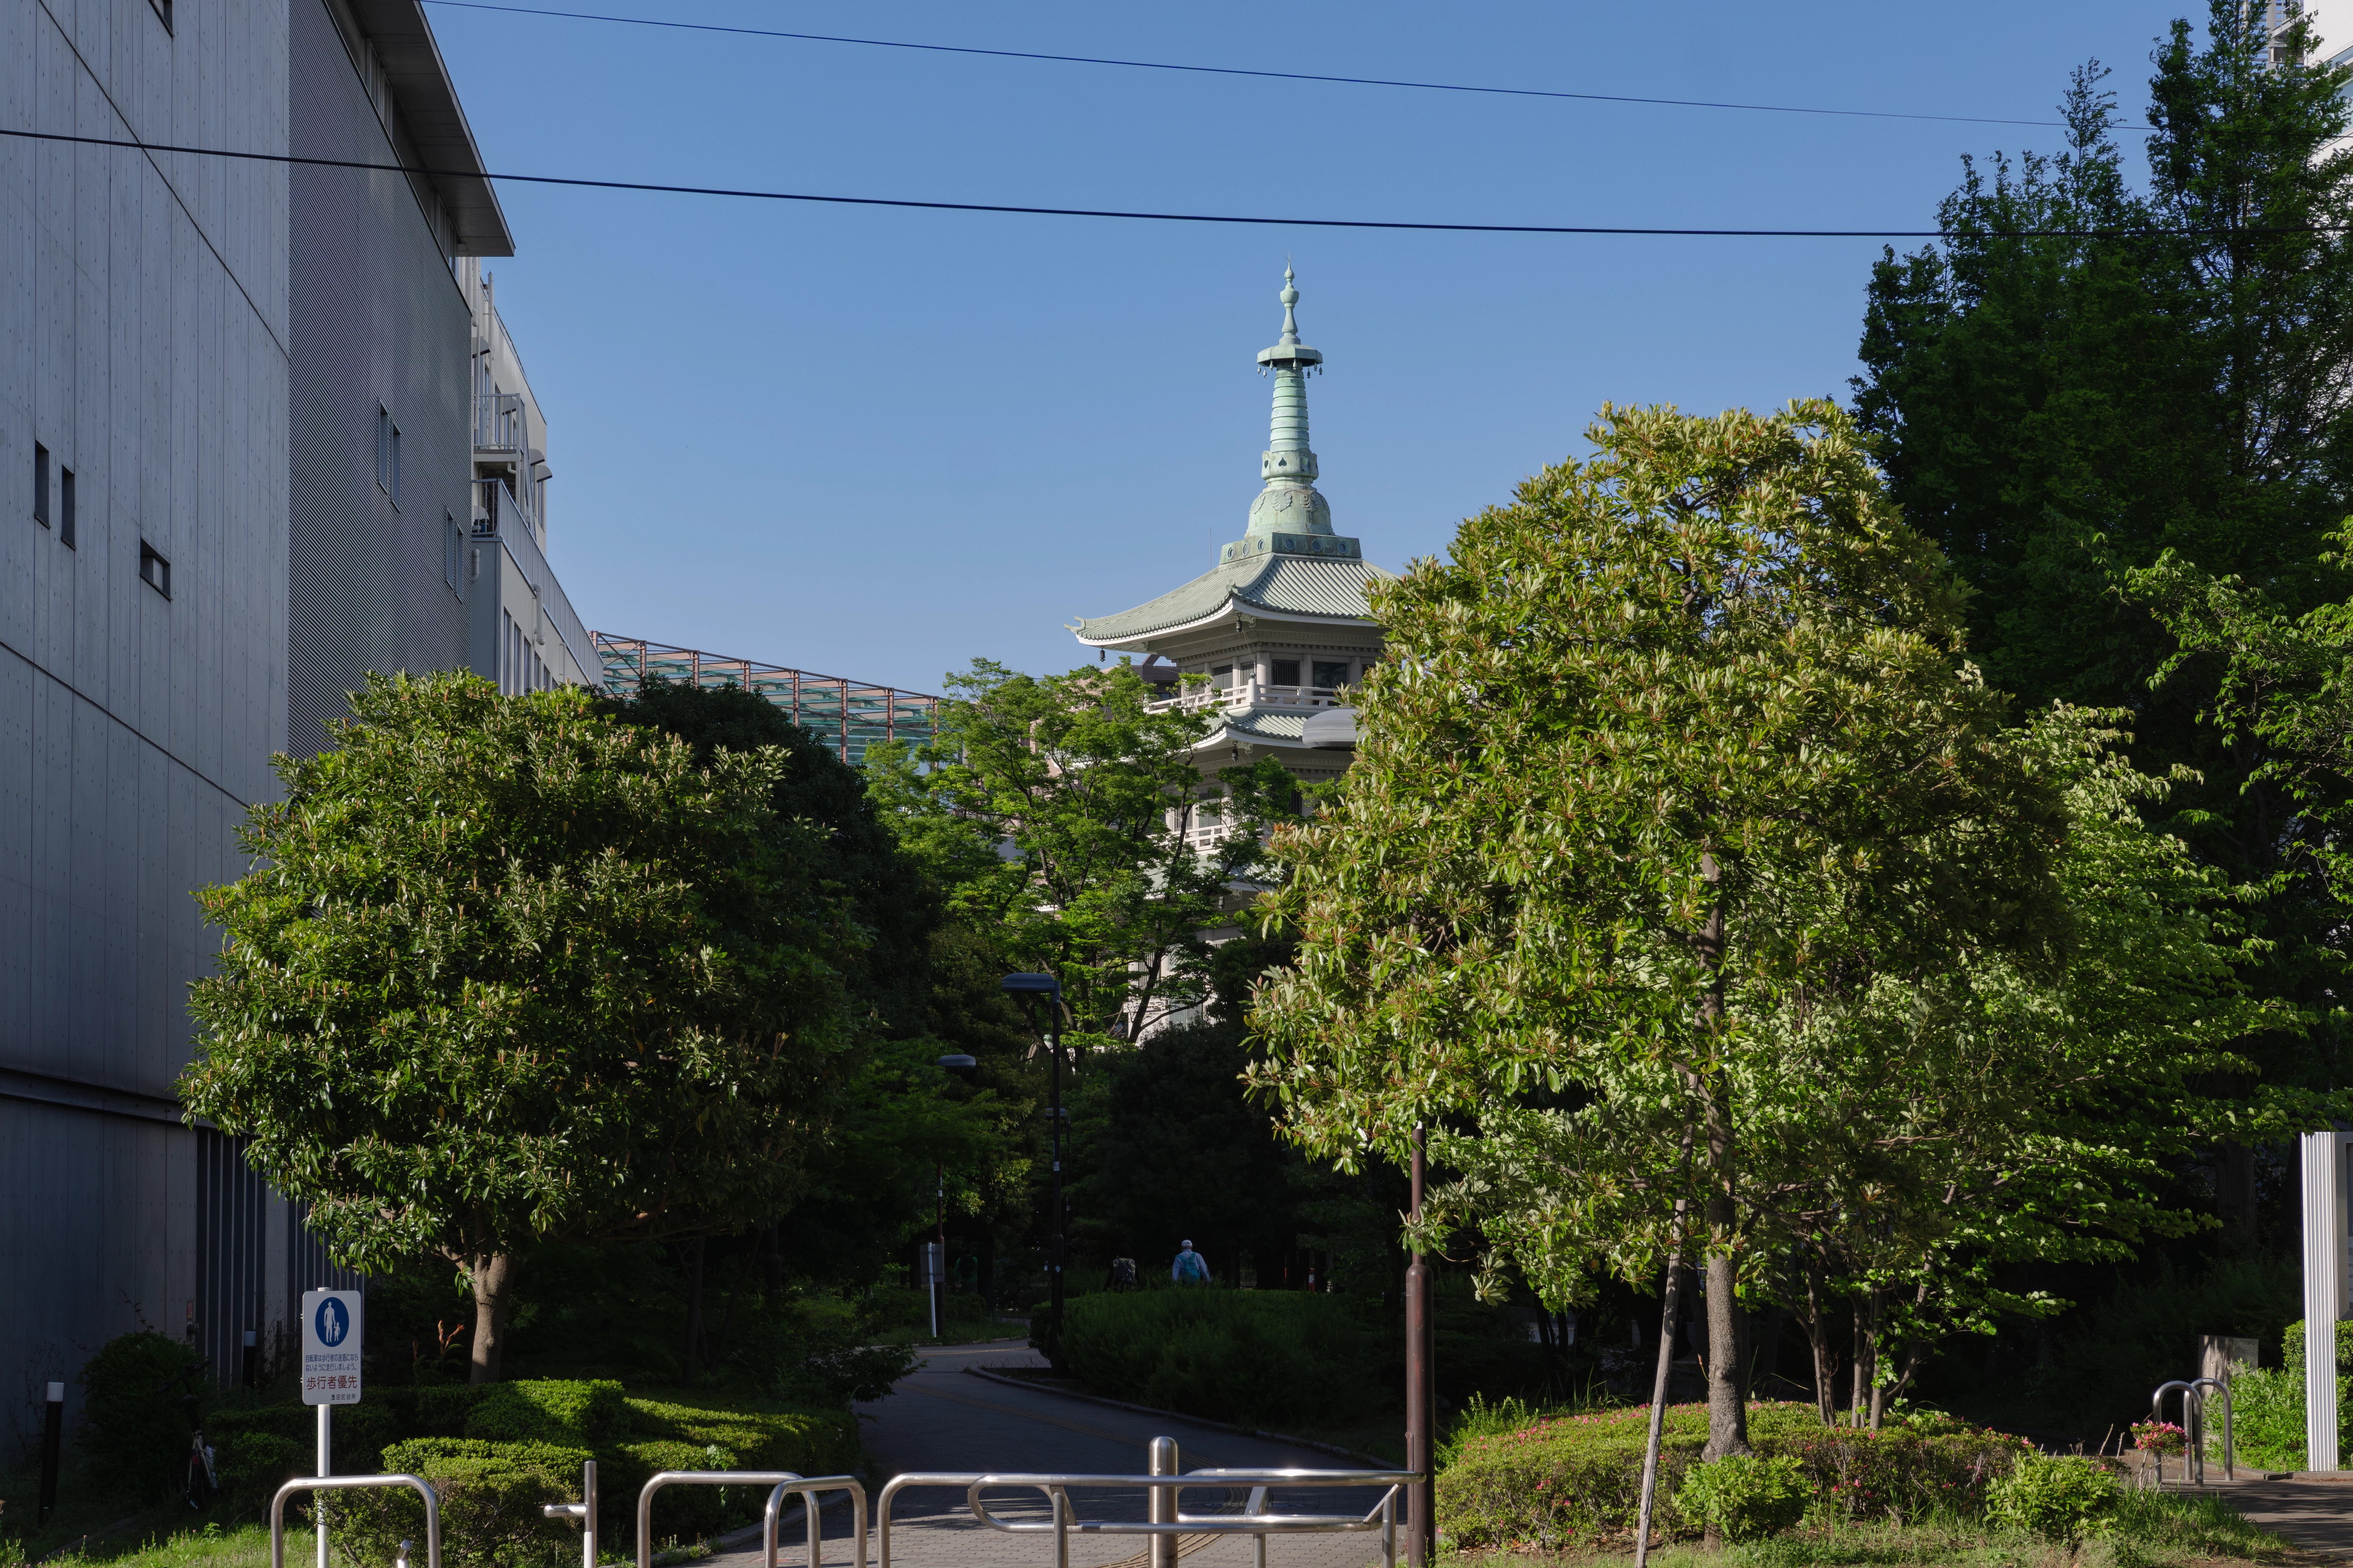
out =
[(1301, 947), (1259, 987), (1259, 1081), (1341, 1159), (1595, 1100), (1586, 1173), (1609, 1175), (1546, 1246), (1647, 1274), (1692, 1204), (1722, 1455), (1746, 1446), (1748, 1037), (1805, 985), (1962, 943), (2038, 959), (2061, 816), (1840, 409), (1605, 409), (1591, 440), (1374, 590), (1391, 656), (1358, 762), (1275, 837)]

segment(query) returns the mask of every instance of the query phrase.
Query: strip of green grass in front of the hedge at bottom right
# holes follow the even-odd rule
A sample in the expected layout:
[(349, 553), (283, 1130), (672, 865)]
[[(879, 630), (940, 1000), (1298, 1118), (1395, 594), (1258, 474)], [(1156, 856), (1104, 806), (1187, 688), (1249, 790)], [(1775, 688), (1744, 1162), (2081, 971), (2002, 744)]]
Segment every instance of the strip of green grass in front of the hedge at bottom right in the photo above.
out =
[[(1447, 1552), (1447, 1556), (1461, 1563), (1492, 1561), (1497, 1568), (1518, 1563), (1605, 1568), (1633, 1561), (1633, 1547), (1558, 1554)], [(1772, 1540), (1727, 1552), (1668, 1544), (1652, 1552), (1649, 1561), (1659, 1568), (2191, 1568), (2193, 1563), (2268, 1568), (2294, 1556), (2289, 1542), (2249, 1523), (2221, 1497), (2125, 1493), (2113, 1530), (2087, 1540), (2080, 1552), (1962, 1519), (1897, 1526), (1847, 1523), (1817, 1514)]]

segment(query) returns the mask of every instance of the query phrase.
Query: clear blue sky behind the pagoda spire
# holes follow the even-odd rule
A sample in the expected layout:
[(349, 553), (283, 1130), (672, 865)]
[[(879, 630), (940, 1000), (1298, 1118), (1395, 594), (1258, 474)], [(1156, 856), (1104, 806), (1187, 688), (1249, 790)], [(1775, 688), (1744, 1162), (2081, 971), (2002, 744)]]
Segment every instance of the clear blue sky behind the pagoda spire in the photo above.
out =
[[(1339, 75), (2139, 115), (2184, 5), (795, 5), (518, 0)], [(2202, 16), (2202, 5), (2198, 7)], [(2057, 129), (986, 61), (428, 5), (492, 169), (1297, 216), (1922, 228)], [(2137, 139), (2134, 139), (2137, 141)], [(1334, 522), (1402, 567), (1602, 402), (1845, 395), (1875, 242), (1395, 235), (501, 186), (499, 308), (588, 625), (936, 691), (1205, 571), (1259, 487), (1252, 355), (1299, 270)]]

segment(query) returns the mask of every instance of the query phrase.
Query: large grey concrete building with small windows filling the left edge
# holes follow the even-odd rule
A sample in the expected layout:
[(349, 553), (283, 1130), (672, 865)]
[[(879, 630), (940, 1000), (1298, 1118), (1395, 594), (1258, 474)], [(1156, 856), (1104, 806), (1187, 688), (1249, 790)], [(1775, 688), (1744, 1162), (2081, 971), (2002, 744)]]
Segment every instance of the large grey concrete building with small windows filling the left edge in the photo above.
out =
[(191, 889), (367, 670), (595, 665), (416, 0), (21, 0), (0, 125), (442, 172), (0, 139), (0, 1345), (12, 1389), (141, 1324), (233, 1375), (332, 1269), (181, 1124)]

